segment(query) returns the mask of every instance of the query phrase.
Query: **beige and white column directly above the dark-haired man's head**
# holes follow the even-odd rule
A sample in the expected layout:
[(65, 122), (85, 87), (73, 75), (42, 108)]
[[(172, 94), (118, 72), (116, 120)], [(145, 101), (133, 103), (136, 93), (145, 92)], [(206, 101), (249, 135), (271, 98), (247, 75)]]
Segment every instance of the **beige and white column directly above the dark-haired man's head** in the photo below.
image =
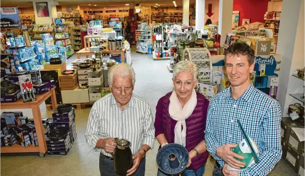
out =
[(232, 12), (233, 0), (219, 0), (218, 33), (221, 35), (221, 46), (225, 42), (227, 33), (231, 33), (232, 31)]

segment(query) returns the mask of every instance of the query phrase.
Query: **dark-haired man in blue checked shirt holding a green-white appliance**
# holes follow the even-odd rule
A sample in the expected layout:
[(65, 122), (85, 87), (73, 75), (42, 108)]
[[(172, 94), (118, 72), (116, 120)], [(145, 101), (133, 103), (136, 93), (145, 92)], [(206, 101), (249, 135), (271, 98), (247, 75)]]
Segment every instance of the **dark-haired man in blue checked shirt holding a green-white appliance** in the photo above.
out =
[[(209, 103), (205, 140), (207, 151), (217, 160), (213, 175), (267, 175), (281, 158), (279, 103), (250, 82), (254, 69), (254, 51), (246, 43), (231, 45), (225, 52), (230, 87), (215, 95)], [(260, 162), (237, 171), (245, 163), (232, 152), (243, 139), (237, 120), (256, 142)]]

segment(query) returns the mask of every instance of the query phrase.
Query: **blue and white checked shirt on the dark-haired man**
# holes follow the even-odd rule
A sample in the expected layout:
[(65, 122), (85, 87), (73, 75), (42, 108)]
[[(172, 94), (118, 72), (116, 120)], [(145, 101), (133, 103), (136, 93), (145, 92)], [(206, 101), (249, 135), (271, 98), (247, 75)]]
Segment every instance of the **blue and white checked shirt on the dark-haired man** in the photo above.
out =
[(222, 167), (225, 163), (216, 155), (216, 149), (243, 139), (237, 120), (260, 151), (260, 162), (239, 171), (239, 175), (267, 175), (282, 153), (279, 103), (252, 84), (238, 100), (231, 97), (230, 87), (212, 98), (207, 110), (206, 149)]

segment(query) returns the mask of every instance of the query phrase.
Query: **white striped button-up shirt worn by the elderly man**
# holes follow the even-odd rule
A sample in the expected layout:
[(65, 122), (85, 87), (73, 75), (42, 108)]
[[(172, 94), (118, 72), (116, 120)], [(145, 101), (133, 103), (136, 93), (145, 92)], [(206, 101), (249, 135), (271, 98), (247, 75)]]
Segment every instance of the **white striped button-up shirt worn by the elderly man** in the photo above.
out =
[(149, 104), (132, 95), (126, 108), (122, 110), (114, 96), (108, 94), (96, 101), (90, 111), (85, 139), (90, 149), (111, 157), (102, 149), (96, 149), (100, 138), (118, 137), (131, 142), (134, 155), (143, 144), (151, 148), (155, 142), (155, 128)]

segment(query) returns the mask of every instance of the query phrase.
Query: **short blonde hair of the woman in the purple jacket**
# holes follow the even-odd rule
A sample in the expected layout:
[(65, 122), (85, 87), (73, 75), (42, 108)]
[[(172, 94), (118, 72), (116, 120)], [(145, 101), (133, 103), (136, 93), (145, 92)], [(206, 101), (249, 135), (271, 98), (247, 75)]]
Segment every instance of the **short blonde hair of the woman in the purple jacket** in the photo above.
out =
[(198, 76), (198, 66), (194, 64), (192, 61), (180, 61), (178, 62), (173, 70), (173, 78), (180, 72), (189, 72), (193, 75), (193, 81), (197, 81)]

